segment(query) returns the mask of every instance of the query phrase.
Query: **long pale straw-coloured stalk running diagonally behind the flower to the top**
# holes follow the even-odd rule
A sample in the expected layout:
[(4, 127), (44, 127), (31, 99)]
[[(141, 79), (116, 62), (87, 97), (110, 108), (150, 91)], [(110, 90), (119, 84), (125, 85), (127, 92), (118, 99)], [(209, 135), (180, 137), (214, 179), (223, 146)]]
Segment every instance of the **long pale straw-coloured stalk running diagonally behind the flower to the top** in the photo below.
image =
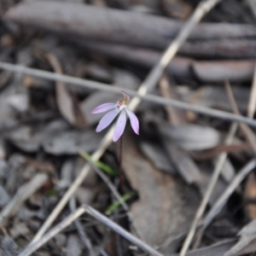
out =
[[(189, 37), (189, 34), (195, 28), (195, 26), (199, 23), (201, 18), (207, 14), (207, 12), (213, 8), (215, 4), (220, 2), (220, 0), (207, 0), (201, 2), (198, 7), (195, 9), (194, 14), (191, 18), (184, 24), (181, 32), (178, 33), (177, 38), (172, 41), (172, 44), (166, 49), (166, 52), (162, 55), (160, 62), (157, 63), (153, 70), (148, 74), (147, 78), (144, 80), (143, 84), (139, 87), (137, 91), (140, 96), (144, 96), (148, 90), (152, 90), (155, 85), (158, 83), (162, 73), (166, 69), (168, 63), (172, 60), (173, 56), (177, 53), (177, 50), (181, 47), (184, 41)], [(3, 65), (2, 65), (3, 66)], [(55, 76), (60, 77), (60, 74), (55, 74)], [(96, 84), (96, 83), (94, 83)], [(134, 97), (130, 104), (129, 108), (131, 111), (134, 111), (137, 108), (137, 105), (141, 102), (139, 97)], [(216, 110), (215, 110), (216, 111)], [(251, 120), (250, 120), (251, 121)], [(92, 155), (92, 160), (99, 160), (105, 150), (108, 148), (110, 143), (112, 143), (113, 137), (113, 126), (108, 130), (108, 133), (102, 139), (102, 143), (100, 147), (96, 150), (96, 152)], [(82, 171), (79, 173), (79, 176), (74, 180), (73, 184), (67, 189), (67, 192), (61, 198), (61, 201), (55, 207), (53, 212), (50, 213), (49, 218), (45, 221), (40, 230), (38, 230), (38, 234), (34, 236), (32, 243), (38, 241), (45, 233), (46, 230), (49, 229), (49, 226), (54, 222), (55, 218), (60, 214), (61, 210), (67, 205), (67, 202), (70, 200), (74, 192), (79, 188), (80, 184), (83, 183), (84, 178), (90, 172), (90, 166), (85, 165)]]

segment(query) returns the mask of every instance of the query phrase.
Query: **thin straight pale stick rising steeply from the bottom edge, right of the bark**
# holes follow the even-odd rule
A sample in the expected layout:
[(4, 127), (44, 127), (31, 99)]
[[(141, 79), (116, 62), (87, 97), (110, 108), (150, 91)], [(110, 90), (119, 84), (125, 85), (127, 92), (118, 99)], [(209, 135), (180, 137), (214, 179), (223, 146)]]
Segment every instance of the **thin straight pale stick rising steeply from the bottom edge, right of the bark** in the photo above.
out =
[[(236, 134), (236, 130), (237, 130), (237, 123), (233, 123), (230, 127), (229, 134), (226, 137), (225, 144), (230, 145), (232, 143), (233, 138)], [(181, 249), (180, 256), (184, 256), (187, 253), (188, 249), (189, 249), (189, 245), (190, 245), (190, 243), (193, 239), (193, 236), (195, 235), (195, 230), (196, 230), (196, 228), (197, 228), (197, 226), (198, 226), (198, 224), (199, 224), (199, 222), (200, 222), (200, 220), (201, 220), (201, 218), (202, 218), (202, 216), (203, 216), (203, 214), (206, 210), (208, 201), (209, 201), (209, 199), (212, 195), (212, 191), (215, 187), (215, 184), (218, 181), (218, 176), (219, 176), (220, 172), (222, 171), (222, 168), (223, 168), (223, 165), (224, 165), (224, 161), (226, 160), (226, 157), (227, 157), (226, 152), (223, 152), (222, 154), (219, 154), (219, 156), (218, 156), (218, 161), (217, 161), (217, 164), (214, 168), (210, 183), (207, 187), (206, 194), (204, 195), (204, 197), (201, 201), (200, 207), (198, 207), (198, 209), (195, 213), (195, 218), (193, 220), (193, 223), (191, 224), (188, 236), (186, 237), (186, 239), (183, 243), (183, 247)]]

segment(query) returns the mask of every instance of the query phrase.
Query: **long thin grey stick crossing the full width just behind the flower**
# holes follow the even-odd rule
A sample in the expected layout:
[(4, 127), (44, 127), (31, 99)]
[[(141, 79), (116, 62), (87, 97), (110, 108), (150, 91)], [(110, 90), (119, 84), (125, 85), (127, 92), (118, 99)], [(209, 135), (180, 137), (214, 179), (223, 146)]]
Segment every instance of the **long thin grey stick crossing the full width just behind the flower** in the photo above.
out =
[(193, 111), (195, 113), (201, 113), (201, 114), (205, 114), (208, 116), (212, 116), (212, 117), (218, 118), (218, 119), (237, 121), (237, 122), (245, 123), (247, 125), (252, 125), (252, 126), (256, 127), (255, 120), (247, 119), (246, 117), (238, 116), (233, 113), (228, 113), (228, 112), (220, 111), (220, 110), (213, 109), (213, 108), (195, 106), (193, 104), (189, 104), (186, 102), (165, 99), (161, 96), (140, 95), (135, 90), (129, 90), (129, 89), (116, 87), (116, 86), (109, 86), (109, 84), (102, 84), (102, 83), (95, 82), (95, 81), (74, 78), (74, 77), (70, 77), (67, 75), (63, 75), (63, 74), (51, 73), (51, 72), (47, 72), (47, 71), (43, 71), (43, 70), (31, 68), (31, 67), (23, 67), (23, 66), (19, 66), (19, 65), (4, 63), (1, 61), (0, 61), (0, 68), (9, 70), (12, 72), (17, 72), (17, 73), (26, 73), (26, 74), (32, 75), (34, 77), (42, 78), (42, 79), (61, 81), (63, 83), (67, 83), (67, 84), (76, 84), (76, 85), (83, 86), (85, 88), (89, 88), (92, 90), (102, 90), (102, 91), (107, 91), (107, 92), (120, 92), (121, 90), (125, 90), (129, 95), (137, 96), (140, 99), (143, 99), (144, 101), (154, 102), (154, 103), (158, 103), (160, 105), (172, 106), (174, 108), (181, 108), (184, 110)]

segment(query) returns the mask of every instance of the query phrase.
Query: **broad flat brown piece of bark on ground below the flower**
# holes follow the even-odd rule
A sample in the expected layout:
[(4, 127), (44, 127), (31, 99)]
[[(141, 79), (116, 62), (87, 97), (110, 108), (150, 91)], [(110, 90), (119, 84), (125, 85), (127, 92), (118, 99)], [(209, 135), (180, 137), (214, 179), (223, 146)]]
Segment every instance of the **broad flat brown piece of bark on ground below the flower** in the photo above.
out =
[(139, 201), (131, 207), (134, 224), (143, 241), (163, 244), (189, 228), (199, 198), (177, 178), (159, 172), (137, 151), (131, 137), (125, 137), (123, 167)]

